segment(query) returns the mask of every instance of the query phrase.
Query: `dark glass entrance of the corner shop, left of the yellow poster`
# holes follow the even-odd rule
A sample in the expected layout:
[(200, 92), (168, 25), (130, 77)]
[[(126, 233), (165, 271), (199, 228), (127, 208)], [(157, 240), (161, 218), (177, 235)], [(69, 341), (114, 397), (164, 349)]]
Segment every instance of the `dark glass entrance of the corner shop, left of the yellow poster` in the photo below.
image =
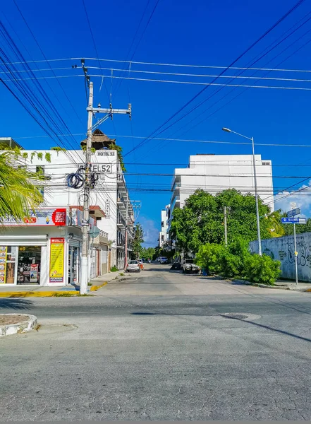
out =
[(39, 284), (41, 246), (18, 247), (17, 284)]

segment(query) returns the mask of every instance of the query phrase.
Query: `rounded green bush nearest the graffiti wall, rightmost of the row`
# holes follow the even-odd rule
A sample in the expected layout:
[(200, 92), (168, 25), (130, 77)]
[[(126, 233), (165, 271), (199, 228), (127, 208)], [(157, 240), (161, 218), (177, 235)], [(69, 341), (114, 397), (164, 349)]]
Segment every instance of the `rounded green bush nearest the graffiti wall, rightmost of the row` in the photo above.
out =
[(273, 285), (281, 274), (281, 262), (267, 255), (250, 254), (245, 259), (245, 276), (251, 283)]

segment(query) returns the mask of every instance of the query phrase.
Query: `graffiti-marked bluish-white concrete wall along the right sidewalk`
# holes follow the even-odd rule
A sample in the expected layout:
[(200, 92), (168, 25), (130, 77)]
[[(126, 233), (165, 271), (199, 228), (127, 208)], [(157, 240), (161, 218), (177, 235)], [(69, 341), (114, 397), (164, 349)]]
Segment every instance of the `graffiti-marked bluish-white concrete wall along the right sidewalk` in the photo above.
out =
[[(296, 236), (298, 252), (298, 280), (311, 282), (311, 232)], [(258, 253), (258, 242), (250, 242), (250, 252)], [(262, 253), (281, 261), (283, 278), (295, 279), (293, 235), (262, 240)]]

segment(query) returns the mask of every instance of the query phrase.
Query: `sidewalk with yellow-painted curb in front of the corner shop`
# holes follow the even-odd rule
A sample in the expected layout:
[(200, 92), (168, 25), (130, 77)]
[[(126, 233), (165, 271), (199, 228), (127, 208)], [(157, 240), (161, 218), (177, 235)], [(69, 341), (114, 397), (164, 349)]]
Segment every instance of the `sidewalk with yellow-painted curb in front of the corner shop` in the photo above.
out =
[[(90, 281), (92, 285), (87, 286), (87, 293), (92, 294), (92, 292), (108, 284), (109, 281), (120, 276), (121, 273), (124, 273), (124, 271), (110, 272), (106, 273), (104, 276), (93, 278)], [(49, 298), (57, 295), (78, 295), (79, 290), (79, 285), (63, 285), (54, 288), (53, 286), (42, 287), (40, 285), (11, 285), (11, 287), (6, 287), (6, 285), (3, 284), (0, 285), (0, 298)]]

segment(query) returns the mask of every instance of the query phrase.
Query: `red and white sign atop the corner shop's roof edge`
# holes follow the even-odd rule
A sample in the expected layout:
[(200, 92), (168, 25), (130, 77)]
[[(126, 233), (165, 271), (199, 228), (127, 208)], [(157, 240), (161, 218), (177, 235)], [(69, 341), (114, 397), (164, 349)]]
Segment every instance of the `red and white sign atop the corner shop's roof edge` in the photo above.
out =
[(16, 221), (13, 218), (2, 221), (7, 226), (63, 226), (67, 225), (66, 208), (47, 208), (30, 212), (29, 216), (25, 216), (23, 220)]

